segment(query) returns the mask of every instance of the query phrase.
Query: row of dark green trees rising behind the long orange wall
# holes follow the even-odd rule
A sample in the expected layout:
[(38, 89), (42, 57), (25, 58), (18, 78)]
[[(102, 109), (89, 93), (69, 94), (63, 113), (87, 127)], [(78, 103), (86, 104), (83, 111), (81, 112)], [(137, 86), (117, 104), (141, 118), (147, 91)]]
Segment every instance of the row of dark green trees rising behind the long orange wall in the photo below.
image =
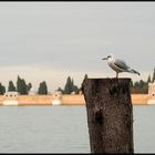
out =
[[(85, 74), (85, 76), (87, 76), (87, 74)], [(148, 75), (147, 81), (144, 81), (144, 80), (140, 80), (136, 82), (131, 81), (131, 93), (147, 94), (148, 93), (148, 83), (153, 83), (153, 82), (155, 82), (155, 68), (154, 68), (153, 75), (152, 76)], [(19, 75), (17, 79), (16, 85), (11, 80), (9, 81), (8, 90), (0, 82), (0, 95), (3, 95), (7, 91), (8, 92), (16, 91), (21, 95), (27, 95), (27, 94), (29, 94), (31, 89), (32, 89), (32, 83), (27, 84), (25, 80), (21, 79)], [(62, 94), (71, 94), (71, 93), (78, 94), (81, 91), (81, 87), (78, 87), (78, 85), (74, 84), (74, 80), (71, 79), (71, 76), (68, 76), (64, 89), (58, 87), (56, 91), (61, 91)], [(37, 94), (48, 94), (48, 85), (46, 85), (45, 81), (40, 82), (39, 89), (35, 93)]]

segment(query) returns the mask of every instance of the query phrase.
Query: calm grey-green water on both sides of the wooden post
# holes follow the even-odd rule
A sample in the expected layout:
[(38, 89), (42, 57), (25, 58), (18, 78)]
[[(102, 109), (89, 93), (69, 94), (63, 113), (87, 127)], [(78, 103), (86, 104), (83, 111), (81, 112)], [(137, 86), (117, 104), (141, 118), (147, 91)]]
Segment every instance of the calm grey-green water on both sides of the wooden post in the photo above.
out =
[[(155, 153), (155, 106), (133, 112), (135, 153)], [(0, 153), (90, 153), (85, 106), (0, 106)]]

